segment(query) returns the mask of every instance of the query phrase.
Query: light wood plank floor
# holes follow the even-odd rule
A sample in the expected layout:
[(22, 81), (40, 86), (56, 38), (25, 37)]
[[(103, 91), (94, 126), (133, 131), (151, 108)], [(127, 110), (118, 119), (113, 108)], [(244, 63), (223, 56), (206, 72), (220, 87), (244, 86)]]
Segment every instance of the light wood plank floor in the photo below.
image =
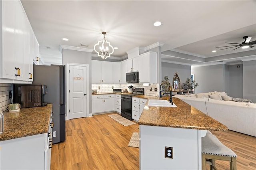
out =
[[(51, 170), (138, 170), (139, 148), (127, 146), (138, 124), (124, 127), (107, 115), (66, 121), (66, 141), (52, 146)], [(256, 137), (212, 133), (237, 154), (238, 170), (256, 170)], [(216, 160), (216, 166), (229, 169), (226, 161)]]

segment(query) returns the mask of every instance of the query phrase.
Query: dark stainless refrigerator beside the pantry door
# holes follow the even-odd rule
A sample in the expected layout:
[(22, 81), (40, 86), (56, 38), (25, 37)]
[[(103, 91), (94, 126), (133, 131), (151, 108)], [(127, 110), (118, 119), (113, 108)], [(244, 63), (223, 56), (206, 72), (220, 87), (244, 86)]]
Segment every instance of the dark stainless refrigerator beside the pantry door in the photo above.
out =
[(47, 93), (44, 102), (52, 103), (52, 143), (63, 142), (65, 135), (66, 74), (65, 65), (33, 65), (33, 85), (44, 84)]

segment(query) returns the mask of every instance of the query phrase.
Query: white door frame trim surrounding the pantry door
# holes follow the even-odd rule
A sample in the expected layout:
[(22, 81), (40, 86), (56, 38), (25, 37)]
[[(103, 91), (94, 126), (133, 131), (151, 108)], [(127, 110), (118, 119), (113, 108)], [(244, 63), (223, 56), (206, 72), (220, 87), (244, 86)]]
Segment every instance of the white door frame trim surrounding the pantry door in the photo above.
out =
[(88, 85), (86, 85), (86, 117), (90, 117), (89, 114), (89, 64), (77, 64), (77, 63), (67, 63), (66, 64), (66, 111), (67, 111), (67, 116), (66, 116), (66, 120), (70, 119), (70, 113), (69, 113), (69, 68), (70, 65), (74, 65), (74, 66), (81, 66), (81, 67), (86, 67), (86, 82), (88, 83)]

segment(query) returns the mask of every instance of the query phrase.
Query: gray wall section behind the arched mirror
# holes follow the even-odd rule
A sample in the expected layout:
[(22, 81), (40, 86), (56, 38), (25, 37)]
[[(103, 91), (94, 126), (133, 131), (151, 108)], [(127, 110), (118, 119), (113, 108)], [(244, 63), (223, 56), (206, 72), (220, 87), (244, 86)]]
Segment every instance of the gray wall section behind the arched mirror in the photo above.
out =
[(182, 83), (185, 83), (187, 78), (191, 76), (191, 66), (162, 62), (162, 79), (160, 80), (160, 84), (161, 81), (164, 80), (164, 76), (168, 76), (169, 82), (173, 85), (172, 79), (176, 72), (180, 77), (180, 83), (182, 85)]

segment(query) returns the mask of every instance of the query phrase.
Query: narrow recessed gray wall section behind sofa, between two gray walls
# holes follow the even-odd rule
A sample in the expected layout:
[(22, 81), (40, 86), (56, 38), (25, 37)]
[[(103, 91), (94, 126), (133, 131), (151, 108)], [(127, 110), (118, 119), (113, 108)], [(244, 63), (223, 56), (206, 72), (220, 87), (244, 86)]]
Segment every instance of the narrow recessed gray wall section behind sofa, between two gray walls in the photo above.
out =
[[(239, 65), (239, 68), (238, 68)], [(231, 97), (243, 98), (243, 65), (229, 66), (229, 94)]]

